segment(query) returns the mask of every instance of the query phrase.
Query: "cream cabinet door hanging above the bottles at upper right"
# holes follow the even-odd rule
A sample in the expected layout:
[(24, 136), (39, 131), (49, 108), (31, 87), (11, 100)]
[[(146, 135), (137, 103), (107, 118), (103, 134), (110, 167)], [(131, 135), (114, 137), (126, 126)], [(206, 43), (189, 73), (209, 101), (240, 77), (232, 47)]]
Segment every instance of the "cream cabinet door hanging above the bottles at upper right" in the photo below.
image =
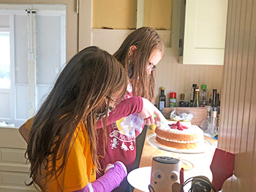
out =
[(227, 0), (187, 0), (183, 64), (223, 65)]

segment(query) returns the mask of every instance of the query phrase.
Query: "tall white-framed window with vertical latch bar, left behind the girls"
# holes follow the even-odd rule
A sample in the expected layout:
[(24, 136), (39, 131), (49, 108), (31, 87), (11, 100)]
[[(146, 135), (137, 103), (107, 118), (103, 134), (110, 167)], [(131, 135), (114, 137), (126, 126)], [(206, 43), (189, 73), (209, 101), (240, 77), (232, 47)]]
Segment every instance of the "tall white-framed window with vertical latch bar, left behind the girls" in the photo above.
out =
[(0, 122), (19, 127), (66, 64), (66, 5), (0, 4), (0, 20)]

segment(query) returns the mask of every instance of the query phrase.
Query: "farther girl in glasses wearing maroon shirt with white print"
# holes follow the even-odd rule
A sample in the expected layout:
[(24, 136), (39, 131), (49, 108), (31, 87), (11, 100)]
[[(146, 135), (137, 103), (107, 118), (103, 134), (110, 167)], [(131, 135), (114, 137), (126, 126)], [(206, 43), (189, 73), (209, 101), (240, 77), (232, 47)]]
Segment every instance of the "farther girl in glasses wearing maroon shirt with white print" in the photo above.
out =
[[(164, 53), (165, 46), (157, 31), (153, 28), (142, 27), (129, 34), (121, 47), (113, 54), (128, 72), (128, 85), (124, 100), (118, 104), (118, 108), (115, 111), (110, 112), (108, 118), (108, 142), (105, 148), (103, 146), (99, 148), (99, 153), (104, 156), (99, 161), (103, 168), (113, 161), (122, 161), (127, 166), (128, 172), (132, 170), (136, 157), (135, 138), (140, 134), (141, 129), (133, 134), (126, 134), (127, 131), (121, 126), (124, 123), (124, 117), (127, 116), (124, 115), (124, 111), (136, 106), (135, 102), (129, 101), (135, 96), (140, 96), (153, 102), (155, 89), (154, 69), (157, 68), (156, 65), (162, 59)], [(116, 117), (116, 114), (119, 113), (123, 114), (121, 118)], [(116, 122), (113, 122), (114, 119)], [(102, 126), (102, 122), (101, 120), (97, 121), (97, 127)], [(149, 126), (151, 123), (154, 123), (152, 118), (144, 119), (144, 124)], [(104, 130), (99, 128), (98, 134), (99, 142), (101, 142)], [(101, 174), (97, 175), (97, 177), (100, 177)], [(115, 191), (129, 191), (127, 180), (124, 180)]]

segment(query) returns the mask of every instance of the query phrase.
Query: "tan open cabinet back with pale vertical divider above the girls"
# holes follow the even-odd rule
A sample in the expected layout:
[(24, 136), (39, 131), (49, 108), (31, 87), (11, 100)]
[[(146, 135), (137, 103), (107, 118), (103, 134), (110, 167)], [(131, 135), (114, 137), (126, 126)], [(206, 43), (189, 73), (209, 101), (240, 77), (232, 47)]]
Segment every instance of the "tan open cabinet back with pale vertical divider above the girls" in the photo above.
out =
[(170, 31), (172, 0), (93, 0), (92, 28)]

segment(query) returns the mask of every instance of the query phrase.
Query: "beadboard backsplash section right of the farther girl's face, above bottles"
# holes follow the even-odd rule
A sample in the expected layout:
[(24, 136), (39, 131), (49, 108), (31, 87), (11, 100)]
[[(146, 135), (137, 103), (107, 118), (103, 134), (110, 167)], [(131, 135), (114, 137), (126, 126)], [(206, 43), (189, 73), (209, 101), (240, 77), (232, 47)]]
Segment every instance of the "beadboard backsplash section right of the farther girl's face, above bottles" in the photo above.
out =
[(158, 104), (161, 87), (165, 87), (167, 107), (169, 107), (168, 101), (171, 92), (176, 93), (177, 103), (180, 101), (181, 93), (185, 94), (185, 101), (189, 101), (194, 83), (199, 85), (199, 88), (201, 85), (207, 85), (209, 93), (212, 93), (213, 88), (216, 88), (220, 96), (222, 95), (222, 66), (178, 64), (176, 57), (165, 55), (157, 65), (156, 73), (156, 104)]

